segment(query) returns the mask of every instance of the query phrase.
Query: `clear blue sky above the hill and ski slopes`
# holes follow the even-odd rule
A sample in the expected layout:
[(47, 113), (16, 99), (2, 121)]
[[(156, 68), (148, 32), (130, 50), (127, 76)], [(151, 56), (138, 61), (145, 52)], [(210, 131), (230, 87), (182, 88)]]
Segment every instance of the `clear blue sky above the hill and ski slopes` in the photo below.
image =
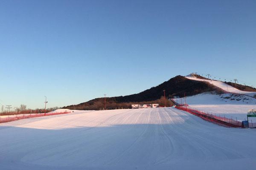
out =
[(256, 86), (255, 0), (0, 0), (0, 103), (138, 93), (176, 75)]

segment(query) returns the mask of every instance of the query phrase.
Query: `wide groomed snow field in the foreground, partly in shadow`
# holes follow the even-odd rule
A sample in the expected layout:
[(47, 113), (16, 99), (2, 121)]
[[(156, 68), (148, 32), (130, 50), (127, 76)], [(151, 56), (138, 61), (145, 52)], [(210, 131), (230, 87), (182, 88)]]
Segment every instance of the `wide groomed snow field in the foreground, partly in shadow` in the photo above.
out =
[(0, 169), (253, 170), (255, 141), (175, 108), (74, 111), (0, 124)]

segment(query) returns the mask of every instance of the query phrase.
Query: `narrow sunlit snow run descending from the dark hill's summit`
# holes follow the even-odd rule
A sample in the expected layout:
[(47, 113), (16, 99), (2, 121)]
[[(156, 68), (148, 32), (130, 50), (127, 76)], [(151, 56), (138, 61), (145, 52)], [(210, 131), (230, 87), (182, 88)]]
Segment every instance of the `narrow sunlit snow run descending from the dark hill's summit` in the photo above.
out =
[(255, 96), (256, 92), (250, 92), (250, 91), (241, 91), (238, 90), (237, 88), (232, 87), (231, 85), (227, 85), (224, 82), (219, 82), (219, 81), (215, 81), (215, 80), (208, 80), (208, 79), (198, 79), (196, 77), (193, 77), (191, 75), (186, 76), (187, 79), (192, 79), (192, 80), (196, 80), (196, 81), (205, 81), (205, 82), (209, 82), (212, 85), (217, 86), (218, 88), (221, 88), (224, 91), (227, 91), (228, 93), (234, 93), (234, 94), (244, 94), (247, 96)]

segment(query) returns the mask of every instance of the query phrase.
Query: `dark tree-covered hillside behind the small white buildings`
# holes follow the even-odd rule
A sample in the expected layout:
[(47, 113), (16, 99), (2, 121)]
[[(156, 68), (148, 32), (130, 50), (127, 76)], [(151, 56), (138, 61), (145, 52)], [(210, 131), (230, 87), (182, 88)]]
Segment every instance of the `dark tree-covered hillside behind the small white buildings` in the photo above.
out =
[[(134, 103), (160, 103), (160, 105), (164, 105), (164, 99), (162, 98), (162, 100), (160, 100), (163, 96), (163, 90), (166, 90), (166, 98), (171, 98), (172, 96), (184, 96), (184, 94), (186, 94), (186, 96), (191, 96), (206, 91), (221, 91), (207, 82), (199, 82), (186, 79), (183, 76), (176, 76), (160, 85), (138, 94), (108, 97), (106, 98), (107, 109), (130, 108), (131, 104)], [(172, 103), (167, 101), (167, 105), (171, 106)], [(104, 108), (104, 98), (96, 98), (78, 105), (65, 106), (64, 108), (77, 110), (99, 110)]]

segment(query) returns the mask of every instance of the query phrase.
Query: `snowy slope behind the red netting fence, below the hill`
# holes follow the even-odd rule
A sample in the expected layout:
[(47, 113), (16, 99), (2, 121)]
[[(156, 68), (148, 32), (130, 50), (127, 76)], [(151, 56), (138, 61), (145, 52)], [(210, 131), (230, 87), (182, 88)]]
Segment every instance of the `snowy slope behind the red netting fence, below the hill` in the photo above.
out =
[[(174, 100), (177, 103), (185, 102), (183, 98)], [(186, 103), (190, 108), (238, 120), (247, 119), (247, 112), (256, 108), (255, 98), (236, 94), (203, 93), (186, 97)], [(251, 120), (256, 122), (255, 118)]]

